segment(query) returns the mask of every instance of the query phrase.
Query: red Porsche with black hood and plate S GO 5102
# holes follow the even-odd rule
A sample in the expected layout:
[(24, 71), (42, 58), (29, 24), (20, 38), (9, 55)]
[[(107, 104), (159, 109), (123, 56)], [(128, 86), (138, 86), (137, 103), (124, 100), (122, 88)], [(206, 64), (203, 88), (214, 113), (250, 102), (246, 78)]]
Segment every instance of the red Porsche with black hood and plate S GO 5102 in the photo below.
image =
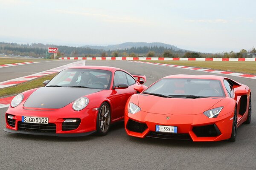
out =
[[(135, 78), (136, 79), (135, 79)], [(144, 89), (145, 76), (113, 67), (67, 68), (45, 87), (15, 96), (6, 111), (6, 132), (47, 136), (85, 136), (108, 133), (124, 119), (127, 99)]]

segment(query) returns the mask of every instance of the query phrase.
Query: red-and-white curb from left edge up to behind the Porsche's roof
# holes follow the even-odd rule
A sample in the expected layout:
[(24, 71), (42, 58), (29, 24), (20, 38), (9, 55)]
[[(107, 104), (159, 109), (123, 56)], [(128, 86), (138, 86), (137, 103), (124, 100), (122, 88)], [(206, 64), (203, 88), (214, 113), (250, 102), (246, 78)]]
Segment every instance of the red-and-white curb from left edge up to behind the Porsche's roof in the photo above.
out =
[(24, 77), (19, 77), (19, 78), (16, 78), (16, 79), (7, 80), (5, 82), (0, 82), (0, 88), (6, 88), (6, 87), (9, 87), (9, 86), (17, 85), (17, 84), (20, 84), (22, 82), (27, 82), (27, 81), (30, 81), (32, 79), (42, 77), (42, 76), (45, 76), (45, 75), (48, 75), (48, 74), (58, 73), (58, 72), (64, 70), (65, 68), (68, 68), (68, 67), (81, 66), (81, 65), (85, 65), (85, 61), (77, 61), (77, 62), (73, 62), (73, 63), (63, 65), (63, 66), (60, 66), (60, 67), (57, 67), (57, 68), (52, 68), (52, 69), (47, 70), (47, 71), (42, 71), (40, 73), (31, 74), (29, 76), (24, 76)]

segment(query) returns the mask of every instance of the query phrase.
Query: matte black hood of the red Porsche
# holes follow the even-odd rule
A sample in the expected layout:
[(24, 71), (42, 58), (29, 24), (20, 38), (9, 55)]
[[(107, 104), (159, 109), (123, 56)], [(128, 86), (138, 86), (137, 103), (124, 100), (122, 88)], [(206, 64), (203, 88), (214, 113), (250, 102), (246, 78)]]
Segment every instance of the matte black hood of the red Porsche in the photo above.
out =
[(63, 108), (81, 96), (102, 91), (91, 88), (42, 87), (34, 91), (24, 103), (29, 108)]

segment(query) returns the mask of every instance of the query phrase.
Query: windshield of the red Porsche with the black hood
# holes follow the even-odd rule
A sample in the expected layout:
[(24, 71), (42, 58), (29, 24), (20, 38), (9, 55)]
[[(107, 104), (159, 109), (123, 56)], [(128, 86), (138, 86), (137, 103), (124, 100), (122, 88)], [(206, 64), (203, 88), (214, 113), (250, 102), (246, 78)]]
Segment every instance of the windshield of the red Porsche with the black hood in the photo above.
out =
[(46, 87), (109, 89), (111, 71), (97, 69), (66, 69), (57, 74)]

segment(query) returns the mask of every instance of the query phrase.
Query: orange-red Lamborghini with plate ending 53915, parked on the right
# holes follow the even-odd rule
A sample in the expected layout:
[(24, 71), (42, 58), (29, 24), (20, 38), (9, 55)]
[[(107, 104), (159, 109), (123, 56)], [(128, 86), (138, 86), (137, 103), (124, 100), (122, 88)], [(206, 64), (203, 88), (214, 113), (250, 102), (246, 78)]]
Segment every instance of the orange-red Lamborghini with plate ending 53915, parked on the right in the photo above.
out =
[(130, 136), (234, 142), (251, 121), (250, 88), (226, 77), (172, 75), (140, 92), (125, 106)]

